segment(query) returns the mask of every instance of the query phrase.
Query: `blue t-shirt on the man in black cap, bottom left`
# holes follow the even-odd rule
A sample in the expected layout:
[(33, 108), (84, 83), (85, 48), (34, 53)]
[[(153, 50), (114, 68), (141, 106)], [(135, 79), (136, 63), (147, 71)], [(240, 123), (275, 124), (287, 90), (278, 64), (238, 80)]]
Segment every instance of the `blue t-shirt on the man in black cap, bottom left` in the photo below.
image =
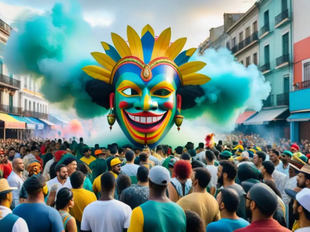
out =
[(14, 208), (13, 213), (23, 218), (30, 232), (63, 232), (60, 213), (44, 203), (23, 203)]

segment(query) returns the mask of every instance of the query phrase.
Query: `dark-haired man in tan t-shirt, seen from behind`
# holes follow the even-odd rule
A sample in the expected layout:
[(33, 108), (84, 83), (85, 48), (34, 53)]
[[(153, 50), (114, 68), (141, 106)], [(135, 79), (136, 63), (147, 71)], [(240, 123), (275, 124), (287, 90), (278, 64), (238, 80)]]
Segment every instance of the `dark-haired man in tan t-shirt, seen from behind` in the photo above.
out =
[(219, 205), (215, 198), (206, 191), (211, 180), (211, 173), (206, 168), (195, 168), (193, 170), (193, 193), (182, 197), (177, 204), (183, 210), (192, 210), (201, 217), (204, 228), (212, 221), (219, 220)]

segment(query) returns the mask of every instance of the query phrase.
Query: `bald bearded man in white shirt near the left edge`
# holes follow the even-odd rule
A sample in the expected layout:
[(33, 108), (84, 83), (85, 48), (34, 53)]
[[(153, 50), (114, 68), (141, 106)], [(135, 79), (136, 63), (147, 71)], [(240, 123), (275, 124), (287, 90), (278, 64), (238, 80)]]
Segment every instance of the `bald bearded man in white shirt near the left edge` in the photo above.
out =
[(13, 195), (12, 208), (15, 208), (17, 205), (20, 204), (19, 193), (26, 178), (22, 176), (22, 172), (24, 171), (24, 163), (21, 158), (15, 158), (12, 161), (12, 165), (13, 170), (11, 174), (8, 176), (7, 181), (11, 187), (17, 187), (16, 190), (12, 191)]

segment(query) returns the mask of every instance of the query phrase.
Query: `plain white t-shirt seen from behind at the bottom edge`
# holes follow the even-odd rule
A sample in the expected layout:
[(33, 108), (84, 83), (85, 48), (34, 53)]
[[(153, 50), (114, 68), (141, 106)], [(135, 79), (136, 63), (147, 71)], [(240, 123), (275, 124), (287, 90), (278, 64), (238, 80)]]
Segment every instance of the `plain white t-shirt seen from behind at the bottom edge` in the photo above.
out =
[(94, 201), (84, 208), (81, 230), (123, 232), (130, 224), (132, 210), (118, 200)]

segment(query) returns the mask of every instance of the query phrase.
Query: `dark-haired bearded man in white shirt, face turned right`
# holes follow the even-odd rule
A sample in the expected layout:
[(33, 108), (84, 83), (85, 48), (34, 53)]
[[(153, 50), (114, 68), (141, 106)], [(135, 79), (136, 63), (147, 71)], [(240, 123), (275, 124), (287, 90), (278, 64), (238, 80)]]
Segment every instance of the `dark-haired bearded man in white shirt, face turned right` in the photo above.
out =
[[(47, 187), (49, 190), (51, 190), (51, 186), (53, 184), (57, 184), (57, 192), (63, 188), (63, 187), (67, 187), (69, 189), (72, 188), (71, 183), (70, 183), (70, 177), (68, 176), (68, 170), (66, 168), (65, 165), (63, 164), (59, 164), (56, 166), (56, 177), (47, 181)], [(56, 192), (56, 195), (57, 195)]]

